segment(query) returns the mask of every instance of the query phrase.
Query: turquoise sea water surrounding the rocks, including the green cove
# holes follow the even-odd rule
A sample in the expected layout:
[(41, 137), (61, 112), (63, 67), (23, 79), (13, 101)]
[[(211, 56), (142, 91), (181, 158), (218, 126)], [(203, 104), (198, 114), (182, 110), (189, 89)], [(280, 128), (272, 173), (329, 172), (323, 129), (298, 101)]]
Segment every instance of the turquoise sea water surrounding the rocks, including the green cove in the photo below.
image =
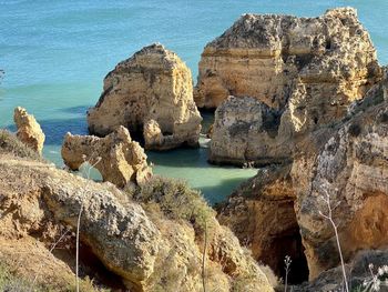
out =
[[(142, 47), (161, 42), (175, 51), (195, 83), (204, 46), (241, 14), (315, 17), (345, 6), (358, 9), (387, 63), (387, 0), (0, 0), (0, 127), (12, 125), (14, 107), (27, 108), (45, 132), (44, 157), (61, 167), (64, 133), (86, 133), (85, 111), (98, 101), (103, 78)], [(147, 154), (155, 173), (186, 180), (212, 203), (256, 173), (210, 165), (206, 151), (202, 139), (200, 149)]]

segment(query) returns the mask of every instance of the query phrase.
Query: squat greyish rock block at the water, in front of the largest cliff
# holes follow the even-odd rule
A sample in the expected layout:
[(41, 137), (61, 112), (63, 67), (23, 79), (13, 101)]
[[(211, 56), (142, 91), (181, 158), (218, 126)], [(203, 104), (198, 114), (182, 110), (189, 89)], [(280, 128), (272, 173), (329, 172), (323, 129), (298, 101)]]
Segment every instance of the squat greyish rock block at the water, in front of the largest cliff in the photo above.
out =
[(289, 159), (292, 144), (278, 111), (254, 98), (229, 97), (215, 111), (208, 160), (242, 165)]

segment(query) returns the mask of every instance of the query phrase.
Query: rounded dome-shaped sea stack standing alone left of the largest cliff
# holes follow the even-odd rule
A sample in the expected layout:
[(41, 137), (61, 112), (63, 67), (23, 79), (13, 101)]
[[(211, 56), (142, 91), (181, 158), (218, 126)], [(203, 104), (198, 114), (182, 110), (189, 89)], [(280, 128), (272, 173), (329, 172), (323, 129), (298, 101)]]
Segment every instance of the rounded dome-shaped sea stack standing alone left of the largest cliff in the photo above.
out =
[(201, 121), (190, 69), (162, 44), (120, 62), (105, 77), (104, 91), (88, 113), (91, 133), (105, 135), (124, 125), (131, 133), (144, 131), (145, 148), (155, 150), (197, 145)]

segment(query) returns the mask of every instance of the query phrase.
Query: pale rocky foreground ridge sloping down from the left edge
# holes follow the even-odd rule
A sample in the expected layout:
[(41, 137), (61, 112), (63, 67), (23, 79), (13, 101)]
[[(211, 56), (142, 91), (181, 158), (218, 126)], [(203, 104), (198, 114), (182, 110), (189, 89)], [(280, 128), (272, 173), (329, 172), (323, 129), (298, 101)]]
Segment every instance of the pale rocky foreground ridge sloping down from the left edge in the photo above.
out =
[[(173, 292), (178, 286), (182, 292), (203, 291), (203, 234), (188, 221), (169, 219), (146, 203), (144, 211), (111, 183), (88, 181), (52, 164), (11, 154), (0, 154), (0, 255), (9, 250), (2, 242), (9, 241), (18, 242), (12, 250), (16, 256), (20, 256), (27, 241), (34, 249), (43, 244), (51, 249), (60, 236), (55, 230), (64, 226), (74, 231), (82, 209), (81, 246), (89, 248), (112, 275), (119, 275), (116, 281), (126, 289)], [(212, 233), (206, 250), (207, 288), (273, 292), (266, 275), (244, 253), (235, 235), (214, 217), (208, 222)], [(40, 245), (33, 244), (37, 240)], [(65, 250), (54, 258), (53, 266), (73, 266), (73, 254), (64, 256)], [(45, 255), (44, 263), (50, 264), (47, 258), (50, 259)]]

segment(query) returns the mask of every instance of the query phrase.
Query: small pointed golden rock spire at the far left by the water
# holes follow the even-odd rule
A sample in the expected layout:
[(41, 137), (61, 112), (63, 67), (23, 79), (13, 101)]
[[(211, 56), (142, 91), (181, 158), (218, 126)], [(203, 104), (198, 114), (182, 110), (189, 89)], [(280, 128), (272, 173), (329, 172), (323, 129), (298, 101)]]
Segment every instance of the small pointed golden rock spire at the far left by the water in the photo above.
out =
[(35, 118), (25, 109), (18, 107), (14, 109), (13, 121), (18, 129), (19, 140), (41, 154), (45, 135)]

